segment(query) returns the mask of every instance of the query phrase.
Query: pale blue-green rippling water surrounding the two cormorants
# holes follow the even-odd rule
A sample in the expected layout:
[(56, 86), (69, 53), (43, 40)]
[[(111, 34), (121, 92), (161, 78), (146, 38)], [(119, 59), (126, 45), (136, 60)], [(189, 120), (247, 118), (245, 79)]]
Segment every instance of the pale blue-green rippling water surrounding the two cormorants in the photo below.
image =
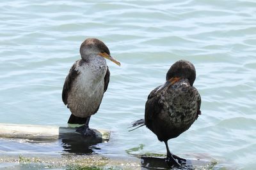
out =
[[(169, 141), (177, 155), (205, 154), (224, 167), (256, 167), (256, 3), (236, 1), (2, 1), (0, 3), (0, 122), (66, 126), (61, 101), (68, 70), (88, 37), (101, 39), (121, 67), (91, 126), (113, 131), (97, 153), (165, 153), (143, 118), (152, 89), (179, 59), (195, 64), (202, 115)], [(60, 153), (63, 148), (12, 141), (0, 152)], [(29, 148), (29, 149), (28, 149)], [(29, 150), (29, 151), (28, 151)]]

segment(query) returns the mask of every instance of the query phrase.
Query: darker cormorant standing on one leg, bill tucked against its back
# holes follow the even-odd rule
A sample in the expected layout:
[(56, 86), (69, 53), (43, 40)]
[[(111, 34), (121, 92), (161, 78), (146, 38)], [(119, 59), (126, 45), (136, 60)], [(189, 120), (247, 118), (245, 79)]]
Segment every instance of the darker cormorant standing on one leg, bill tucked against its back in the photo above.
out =
[[(195, 66), (188, 60), (178, 60), (166, 73), (166, 81), (148, 95), (145, 118), (133, 122), (132, 128), (146, 125), (166, 146), (168, 166), (182, 166), (186, 159), (169, 150), (168, 140), (177, 138), (201, 115), (201, 97), (193, 86)], [(130, 130), (133, 131), (134, 129)]]

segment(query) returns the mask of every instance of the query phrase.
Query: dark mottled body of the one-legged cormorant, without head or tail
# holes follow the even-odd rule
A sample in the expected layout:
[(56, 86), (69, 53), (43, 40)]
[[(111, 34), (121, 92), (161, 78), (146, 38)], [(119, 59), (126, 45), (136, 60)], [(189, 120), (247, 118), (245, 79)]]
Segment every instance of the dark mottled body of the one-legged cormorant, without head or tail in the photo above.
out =
[(152, 90), (145, 107), (145, 125), (160, 141), (176, 138), (189, 129), (198, 117), (200, 95), (189, 80)]

